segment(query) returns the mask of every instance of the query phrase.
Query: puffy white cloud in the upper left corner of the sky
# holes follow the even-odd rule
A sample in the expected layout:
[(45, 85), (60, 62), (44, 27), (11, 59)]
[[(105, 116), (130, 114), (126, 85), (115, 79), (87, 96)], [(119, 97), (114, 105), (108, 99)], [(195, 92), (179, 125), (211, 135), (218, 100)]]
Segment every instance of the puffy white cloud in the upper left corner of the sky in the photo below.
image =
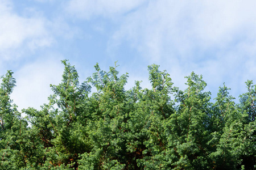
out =
[(0, 1), (0, 22), (1, 59), (16, 59), (25, 50), (50, 46), (53, 42), (46, 19), (40, 16), (19, 16), (13, 11), (10, 2)]

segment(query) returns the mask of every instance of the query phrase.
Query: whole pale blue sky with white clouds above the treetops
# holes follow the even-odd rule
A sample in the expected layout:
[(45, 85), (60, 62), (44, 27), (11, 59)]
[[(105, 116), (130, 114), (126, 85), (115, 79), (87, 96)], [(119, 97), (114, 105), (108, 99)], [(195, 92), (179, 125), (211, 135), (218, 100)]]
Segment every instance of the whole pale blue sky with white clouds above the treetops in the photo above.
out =
[(167, 70), (186, 88), (194, 71), (205, 91), (231, 88), (236, 99), (256, 73), (256, 1), (0, 0), (0, 75), (12, 70), (11, 98), (18, 109), (48, 103), (49, 84), (59, 84), (69, 59), (84, 82), (98, 62), (108, 71), (118, 61), (150, 88), (147, 66)]

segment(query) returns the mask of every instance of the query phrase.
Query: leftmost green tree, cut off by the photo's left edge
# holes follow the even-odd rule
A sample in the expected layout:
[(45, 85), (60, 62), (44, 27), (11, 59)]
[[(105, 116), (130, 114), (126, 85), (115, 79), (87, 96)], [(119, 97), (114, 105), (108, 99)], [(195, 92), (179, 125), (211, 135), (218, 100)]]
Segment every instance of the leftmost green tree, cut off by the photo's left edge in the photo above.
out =
[(19, 169), (24, 162), (24, 155), (20, 151), (19, 139), (27, 123), (22, 120), (16, 105), (12, 104), (10, 94), (15, 87), (13, 72), (7, 71), (5, 76), (1, 76), (0, 88), (0, 158), (1, 169)]

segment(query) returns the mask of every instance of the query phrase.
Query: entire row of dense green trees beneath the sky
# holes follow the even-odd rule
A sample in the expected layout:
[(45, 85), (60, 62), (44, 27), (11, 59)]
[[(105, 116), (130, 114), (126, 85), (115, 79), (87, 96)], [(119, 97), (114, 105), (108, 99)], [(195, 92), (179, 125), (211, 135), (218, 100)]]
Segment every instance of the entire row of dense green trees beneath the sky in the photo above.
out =
[(125, 90), (128, 75), (118, 76), (117, 65), (106, 72), (97, 64), (80, 84), (75, 67), (62, 62), (49, 103), (23, 109), (25, 118), (10, 99), (13, 73), (2, 76), (1, 169), (256, 169), (252, 81), (240, 103), (225, 84), (213, 103), (195, 73), (181, 91), (151, 65), (151, 89), (135, 82)]

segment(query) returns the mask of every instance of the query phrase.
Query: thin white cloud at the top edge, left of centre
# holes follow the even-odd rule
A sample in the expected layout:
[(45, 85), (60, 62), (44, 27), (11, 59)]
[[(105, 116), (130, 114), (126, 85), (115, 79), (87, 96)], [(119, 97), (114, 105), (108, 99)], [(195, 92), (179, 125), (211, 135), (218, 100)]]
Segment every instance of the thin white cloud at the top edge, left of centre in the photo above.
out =
[(145, 0), (71, 0), (65, 4), (65, 10), (78, 18), (90, 19), (95, 16), (113, 17), (124, 14), (141, 5)]

